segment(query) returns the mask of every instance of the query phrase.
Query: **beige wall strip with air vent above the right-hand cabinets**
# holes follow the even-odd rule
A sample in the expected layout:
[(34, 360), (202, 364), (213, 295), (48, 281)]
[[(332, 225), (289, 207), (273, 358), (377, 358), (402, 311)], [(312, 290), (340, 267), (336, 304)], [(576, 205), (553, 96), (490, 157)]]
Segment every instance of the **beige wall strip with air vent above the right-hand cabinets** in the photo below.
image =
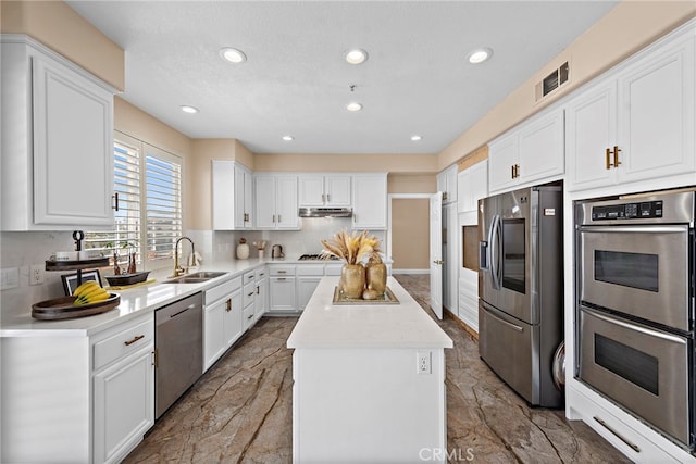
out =
[[(577, 89), (696, 15), (696, 2), (624, 0), (580, 36), (558, 57), (510, 93), (488, 114), (462, 133), (438, 155), (438, 171), (488, 143), (507, 129)], [(570, 81), (555, 96), (535, 104), (534, 86), (564, 62)]]

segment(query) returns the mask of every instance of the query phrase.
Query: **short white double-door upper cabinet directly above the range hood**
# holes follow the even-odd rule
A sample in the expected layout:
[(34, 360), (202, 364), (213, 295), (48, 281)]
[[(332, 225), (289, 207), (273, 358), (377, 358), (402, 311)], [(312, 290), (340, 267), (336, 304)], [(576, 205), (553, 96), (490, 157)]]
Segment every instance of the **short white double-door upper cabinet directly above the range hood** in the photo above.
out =
[(299, 206), (350, 206), (351, 176), (312, 174), (299, 177)]

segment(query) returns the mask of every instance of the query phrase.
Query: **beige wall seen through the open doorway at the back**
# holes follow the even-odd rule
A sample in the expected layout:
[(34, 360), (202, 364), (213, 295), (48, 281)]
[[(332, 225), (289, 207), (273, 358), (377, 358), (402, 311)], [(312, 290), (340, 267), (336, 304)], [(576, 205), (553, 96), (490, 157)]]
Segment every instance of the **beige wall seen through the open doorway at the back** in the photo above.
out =
[(393, 268), (430, 268), (430, 200), (391, 200)]

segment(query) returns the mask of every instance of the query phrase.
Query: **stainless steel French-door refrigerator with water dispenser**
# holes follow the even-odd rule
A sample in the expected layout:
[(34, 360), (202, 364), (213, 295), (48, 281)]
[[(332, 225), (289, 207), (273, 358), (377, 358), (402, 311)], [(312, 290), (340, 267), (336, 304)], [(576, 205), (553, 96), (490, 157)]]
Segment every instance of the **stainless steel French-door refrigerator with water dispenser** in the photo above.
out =
[(563, 334), (562, 187), (481, 200), (478, 352), (532, 405), (560, 407), (554, 356)]

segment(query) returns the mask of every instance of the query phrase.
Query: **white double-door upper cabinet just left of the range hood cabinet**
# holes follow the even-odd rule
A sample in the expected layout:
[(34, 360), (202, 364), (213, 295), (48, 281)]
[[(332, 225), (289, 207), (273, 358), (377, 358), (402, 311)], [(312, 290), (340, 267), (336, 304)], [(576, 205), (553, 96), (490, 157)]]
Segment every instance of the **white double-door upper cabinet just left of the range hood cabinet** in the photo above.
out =
[(298, 229), (297, 177), (257, 175), (256, 221), (258, 229)]

